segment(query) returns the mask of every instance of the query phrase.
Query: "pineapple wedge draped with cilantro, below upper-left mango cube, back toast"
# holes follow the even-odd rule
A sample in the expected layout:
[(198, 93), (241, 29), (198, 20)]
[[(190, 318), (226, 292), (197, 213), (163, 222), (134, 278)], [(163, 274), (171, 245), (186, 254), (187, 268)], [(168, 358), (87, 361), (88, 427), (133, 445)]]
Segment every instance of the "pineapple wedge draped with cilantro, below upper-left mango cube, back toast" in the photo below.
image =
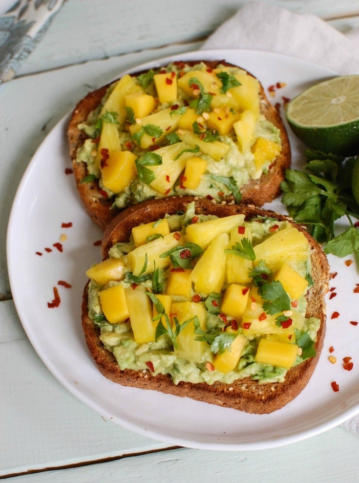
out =
[(176, 114), (174, 110), (163, 109), (155, 112), (154, 114), (149, 114), (141, 119), (141, 123), (133, 124), (129, 127), (129, 131), (131, 135), (139, 132), (141, 127), (145, 126), (156, 126), (161, 131), (161, 134), (157, 137), (144, 133), (141, 137), (141, 147), (142, 148), (149, 148), (150, 146), (155, 146), (160, 143), (167, 134), (174, 132), (177, 129), (178, 121), (181, 115)]

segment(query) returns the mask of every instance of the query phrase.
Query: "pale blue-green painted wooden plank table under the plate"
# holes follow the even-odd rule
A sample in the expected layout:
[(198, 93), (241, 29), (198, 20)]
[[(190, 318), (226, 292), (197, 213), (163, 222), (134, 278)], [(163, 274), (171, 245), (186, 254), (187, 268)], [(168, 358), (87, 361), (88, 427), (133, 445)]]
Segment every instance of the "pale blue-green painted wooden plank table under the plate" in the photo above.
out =
[[(169, 446), (101, 417), (46, 369), (16, 313), (5, 238), (26, 166), (48, 132), (117, 72), (199, 48), (245, 1), (68, 0), (17, 77), (0, 86), (0, 478), (11, 482), (356, 482), (359, 436), (342, 426), (287, 446)], [(345, 32), (358, 0), (283, 0)], [(36, 301), (34, 301), (36, 303)]]

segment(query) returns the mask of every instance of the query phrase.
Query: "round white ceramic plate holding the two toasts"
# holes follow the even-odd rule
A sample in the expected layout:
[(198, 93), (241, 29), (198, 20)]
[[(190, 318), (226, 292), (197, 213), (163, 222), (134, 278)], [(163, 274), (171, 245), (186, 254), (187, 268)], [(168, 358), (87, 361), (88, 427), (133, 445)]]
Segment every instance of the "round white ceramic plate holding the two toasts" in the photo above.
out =
[[(283, 55), (248, 50), (211, 50), (186, 53), (170, 60), (226, 59), (252, 72), (267, 89), (277, 82), (273, 103), (292, 98), (314, 82), (334, 75), (321, 67)], [(139, 69), (158, 65), (140, 66)], [(136, 69), (137, 70), (137, 69)], [(359, 411), (359, 282), (355, 263), (331, 257), (331, 285), (337, 295), (329, 300), (327, 335), (316, 371), (305, 390), (283, 409), (270, 415), (249, 415), (188, 398), (121, 387), (104, 378), (87, 351), (81, 328), (85, 270), (101, 259), (101, 231), (85, 214), (71, 175), (65, 136), (68, 117), (44, 140), (19, 186), (12, 208), (7, 249), (14, 301), (26, 333), (42, 361), (75, 396), (104, 417), (154, 439), (194, 448), (263, 449), (308, 438), (338, 425)], [(302, 146), (291, 136), (293, 166), (302, 162)], [(268, 205), (285, 212), (280, 200)], [(71, 227), (62, 223), (71, 222)], [(65, 235), (65, 237), (62, 237)], [(64, 240), (66, 238), (66, 240)], [(61, 242), (63, 252), (54, 243)], [(45, 248), (51, 248), (47, 252)], [(42, 253), (42, 255), (36, 254)], [(58, 285), (63, 280), (72, 285)], [(48, 308), (57, 286), (61, 304)], [(332, 319), (334, 311), (339, 317)], [(328, 361), (329, 348), (338, 362)], [(351, 372), (343, 357), (353, 358)], [(336, 381), (339, 392), (332, 390)]]

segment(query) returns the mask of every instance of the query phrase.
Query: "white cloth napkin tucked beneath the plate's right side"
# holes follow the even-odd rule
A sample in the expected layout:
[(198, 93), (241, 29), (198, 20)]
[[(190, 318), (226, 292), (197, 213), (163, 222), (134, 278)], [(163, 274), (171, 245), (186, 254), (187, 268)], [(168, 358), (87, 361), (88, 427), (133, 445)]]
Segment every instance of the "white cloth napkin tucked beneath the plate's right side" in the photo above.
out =
[[(359, 74), (359, 28), (342, 34), (315, 15), (297, 14), (260, 1), (246, 3), (202, 45), (243, 48), (298, 57), (337, 71)], [(342, 423), (359, 433), (359, 415)]]

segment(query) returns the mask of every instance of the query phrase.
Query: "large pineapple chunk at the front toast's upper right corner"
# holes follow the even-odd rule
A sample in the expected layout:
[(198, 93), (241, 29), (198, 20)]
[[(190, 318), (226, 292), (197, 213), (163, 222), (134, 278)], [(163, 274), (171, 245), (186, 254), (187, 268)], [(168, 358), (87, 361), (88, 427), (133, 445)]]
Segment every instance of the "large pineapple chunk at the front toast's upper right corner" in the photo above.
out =
[(293, 260), (294, 263), (302, 263), (310, 255), (310, 247), (304, 234), (289, 223), (255, 245), (253, 250), (256, 257), (254, 264), (265, 260), (266, 265), (274, 272), (283, 262)]

